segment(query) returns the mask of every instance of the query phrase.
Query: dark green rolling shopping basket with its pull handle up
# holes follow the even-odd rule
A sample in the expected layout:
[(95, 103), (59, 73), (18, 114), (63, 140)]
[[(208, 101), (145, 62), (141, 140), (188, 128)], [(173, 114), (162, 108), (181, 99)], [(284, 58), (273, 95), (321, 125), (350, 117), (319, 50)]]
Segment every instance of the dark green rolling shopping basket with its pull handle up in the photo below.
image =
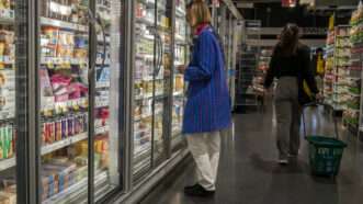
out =
[(309, 165), (311, 173), (315, 175), (334, 177), (339, 173), (340, 161), (343, 156), (347, 144), (339, 139), (337, 117), (333, 117), (336, 138), (329, 136), (309, 135), (306, 134), (305, 114), (304, 111), (309, 106), (326, 106), (333, 110), (331, 105), (322, 103), (309, 103), (303, 106), (303, 127), (304, 137), (309, 143)]

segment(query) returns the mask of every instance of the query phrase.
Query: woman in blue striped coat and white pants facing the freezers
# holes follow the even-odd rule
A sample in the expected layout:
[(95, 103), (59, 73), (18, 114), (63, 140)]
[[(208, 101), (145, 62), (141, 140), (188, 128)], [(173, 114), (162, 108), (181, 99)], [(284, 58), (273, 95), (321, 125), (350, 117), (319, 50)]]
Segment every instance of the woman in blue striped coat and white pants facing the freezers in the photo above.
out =
[(184, 192), (192, 196), (209, 196), (215, 192), (220, 131), (231, 123), (230, 99), (224, 54), (203, 0), (189, 4), (188, 21), (195, 41), (190, 65), (180, 68), (189, 82), (182, 131), (195, 160), (198, 180)]

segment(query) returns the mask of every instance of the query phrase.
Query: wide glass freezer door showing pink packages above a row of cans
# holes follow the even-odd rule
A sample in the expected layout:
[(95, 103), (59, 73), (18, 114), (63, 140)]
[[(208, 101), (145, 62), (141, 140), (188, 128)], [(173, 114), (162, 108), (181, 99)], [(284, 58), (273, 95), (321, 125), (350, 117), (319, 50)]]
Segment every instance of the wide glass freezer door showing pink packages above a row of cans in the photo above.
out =
[(89, 1), (41, 0), (41, 201), (88, 197)]

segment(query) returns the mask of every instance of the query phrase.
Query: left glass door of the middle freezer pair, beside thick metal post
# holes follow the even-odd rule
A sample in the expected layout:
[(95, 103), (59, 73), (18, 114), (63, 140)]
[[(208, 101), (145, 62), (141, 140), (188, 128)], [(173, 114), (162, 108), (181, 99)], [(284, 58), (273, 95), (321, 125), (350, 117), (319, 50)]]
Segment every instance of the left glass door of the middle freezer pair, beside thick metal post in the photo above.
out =
[[(133, 163), (134, 181), (151, 168), (156, 58), (156, 1), (134, 2)], [(157, 93), (158, 94), (158, 93)]]

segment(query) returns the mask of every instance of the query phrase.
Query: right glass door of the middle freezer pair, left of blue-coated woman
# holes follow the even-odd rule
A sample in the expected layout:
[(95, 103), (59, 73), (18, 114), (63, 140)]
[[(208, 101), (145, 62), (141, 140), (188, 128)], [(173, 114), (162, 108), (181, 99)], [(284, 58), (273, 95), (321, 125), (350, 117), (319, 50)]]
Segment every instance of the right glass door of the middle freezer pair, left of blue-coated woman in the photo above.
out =
[(169, 124), (169, 104), (171, 91), (171, 8), (172, 1), (157, 1), (157, 64), (155, 78), (154, 110), (154, 165), (160, 165), (167, 158), (167, 135)]

